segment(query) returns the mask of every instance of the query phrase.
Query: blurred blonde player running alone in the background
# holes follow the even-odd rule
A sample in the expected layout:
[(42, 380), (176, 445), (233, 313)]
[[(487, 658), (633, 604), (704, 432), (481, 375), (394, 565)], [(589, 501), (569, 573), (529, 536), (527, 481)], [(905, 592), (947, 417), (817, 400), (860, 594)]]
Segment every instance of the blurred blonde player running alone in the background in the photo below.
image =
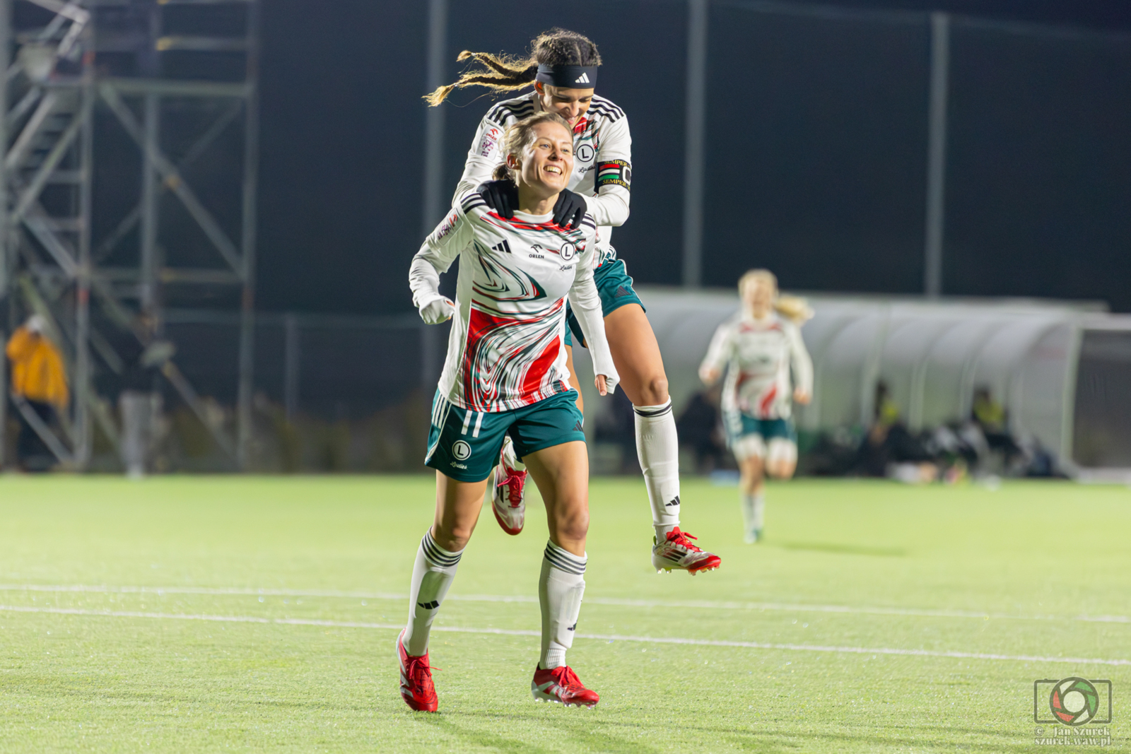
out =
[[(801, 298), (779, 296), (777, 278), (769, 270), (743, 275), (739, 295), (742, 313), (715, 331), (699, 376), (713, 385), (729, 367), (723, 387), (723, 422), (742, 469), (739, 486), (746, 541), (756, 543), (762, 536), (763, 473), (788, 479), (797, 467), (789, 399), (808, 404), (813, 392), (813, 363), (800, 328), (812, 311)], [(797, 385), (793, 391), (791, 366)]]

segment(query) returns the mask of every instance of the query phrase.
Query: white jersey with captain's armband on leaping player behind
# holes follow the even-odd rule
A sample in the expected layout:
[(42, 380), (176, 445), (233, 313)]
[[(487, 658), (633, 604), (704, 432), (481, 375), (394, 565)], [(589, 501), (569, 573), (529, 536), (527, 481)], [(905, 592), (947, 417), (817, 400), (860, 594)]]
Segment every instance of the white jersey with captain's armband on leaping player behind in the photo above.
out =
[[(502, 136), (507, 127), (542, 112), (537, 92), (500, 102), (483, 116), (464, 164), (452, 206), (468, 191), (490, 181), (494, 168), (506, 162)], [(594, 265), (616, 258), (610, 243), (613, 226), (629, 218), (632, 184), (632, 137), (624, 111), (604, 97), (594, 96), (588, 112), (573, 127), (573, 174), (569, 188), (585, 197), (589, 215), (599, 226), (601, 257)]]

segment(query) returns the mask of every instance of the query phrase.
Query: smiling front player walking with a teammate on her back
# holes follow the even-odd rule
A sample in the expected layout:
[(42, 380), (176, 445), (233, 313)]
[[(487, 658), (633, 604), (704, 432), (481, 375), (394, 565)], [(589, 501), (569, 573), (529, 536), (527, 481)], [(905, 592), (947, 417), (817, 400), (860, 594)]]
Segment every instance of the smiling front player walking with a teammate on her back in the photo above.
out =
[[(567, 229), (553, 206), (573, 170), (566, 121), (538, 113), (511, 125), (498, 177), (517, 185), (510, 219), (468, 192), (413, 259), (413, 303), (429, 324), (455, 318), (425, 462), (437, 470), (437, 508), (424, 534), (409, 589), (408, 625), (397, 639), (400, 694), (414, 710), (434, 711), (429, 630), (456, 575), (482, 506), (503, 436), (526, 459), (546, 504), (550, 541), (538, 580), (542, 656), (530, 683), (535, 699), (597, 703), (566, 665), (585, 591), (589, 463), (577, 392), (566, 369), (566, 297), (593, 347), (601, 395), (618, 382), (593, 283), (596, 225), (585, 216)], [(452, 303), (439, 274), (459, 257)]]

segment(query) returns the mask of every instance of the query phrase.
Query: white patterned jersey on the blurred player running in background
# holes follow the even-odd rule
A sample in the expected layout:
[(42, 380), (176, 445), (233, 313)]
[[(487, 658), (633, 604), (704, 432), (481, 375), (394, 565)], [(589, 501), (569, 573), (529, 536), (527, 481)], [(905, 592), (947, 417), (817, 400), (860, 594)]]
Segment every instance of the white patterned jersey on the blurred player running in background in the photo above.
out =
[(756, 320), (742, 313), (715, 330), (700, 373), (729, 367), (723, 385), (723, 410), (760, 419), (789, 418), (793, 390), (789, 370), (803, 391), (813, 391), (813, 362), (801, 328), (777, 314)]

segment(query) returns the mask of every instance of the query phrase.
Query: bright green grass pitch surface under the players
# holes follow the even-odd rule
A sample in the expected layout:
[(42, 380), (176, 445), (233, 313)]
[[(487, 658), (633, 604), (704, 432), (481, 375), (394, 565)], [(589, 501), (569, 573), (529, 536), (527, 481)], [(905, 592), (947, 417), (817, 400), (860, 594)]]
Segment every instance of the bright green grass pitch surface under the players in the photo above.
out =
[(392, 645), (431, 479), (0, 479), (0, 752), (1042, 751), (1033, 683), (1069, 676), (1112, 681), (1126, 748), (1125, 487), (793, 482), (748, 546), (735, 489), (684, 482), (723, 556), (692, 578), (651, 570), (642, 484), (595, 480), (592, 711), (529, 695), (533, 496), (519, 537), (480, 520), (429, 716)]

